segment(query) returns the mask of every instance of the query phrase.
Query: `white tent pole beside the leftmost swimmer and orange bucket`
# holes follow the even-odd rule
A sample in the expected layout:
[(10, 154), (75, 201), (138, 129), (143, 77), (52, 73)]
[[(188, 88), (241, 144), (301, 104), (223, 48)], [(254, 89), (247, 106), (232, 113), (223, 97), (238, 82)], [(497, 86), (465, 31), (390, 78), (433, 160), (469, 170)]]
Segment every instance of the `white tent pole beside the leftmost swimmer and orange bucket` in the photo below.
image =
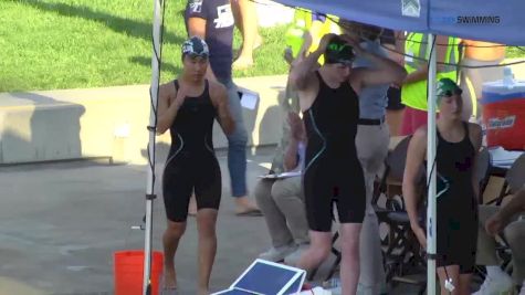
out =
[[(151, 86), (149, 89), (151, 98), (151, 109), (149, 113), (149, 143), (148, 143), (148, 178), (146, 186), (146, 225), (144, 243), (144, 277), (143, 294), (151, 293), (151, 239), (153, 239), (153, 203), (155, 196), (155, 133), (157, 125), (157, 102), (159, 88), (159, 67), (160, 67), (160, 8), (162, 0), (154, 0), (154, 24), (153, 24), (153, 55), (151, 55)], [(153, 157), (153, 159), (151, 159)]]

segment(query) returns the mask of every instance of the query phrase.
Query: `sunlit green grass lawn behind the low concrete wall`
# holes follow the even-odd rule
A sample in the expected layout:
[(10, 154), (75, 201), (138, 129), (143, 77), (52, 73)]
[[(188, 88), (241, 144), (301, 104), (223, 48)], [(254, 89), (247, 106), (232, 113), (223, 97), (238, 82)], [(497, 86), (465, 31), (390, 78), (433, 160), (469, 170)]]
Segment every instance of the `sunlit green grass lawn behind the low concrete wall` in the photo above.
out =
[[(161, 81), (180, 71), (185, 3), (166, 2)], [(0, 92), (149, 84), (151, 19), (151, 0), (1, 0)], [(285, 73), (284, 30), (262, 29), (255, 66), (234, 75)]]

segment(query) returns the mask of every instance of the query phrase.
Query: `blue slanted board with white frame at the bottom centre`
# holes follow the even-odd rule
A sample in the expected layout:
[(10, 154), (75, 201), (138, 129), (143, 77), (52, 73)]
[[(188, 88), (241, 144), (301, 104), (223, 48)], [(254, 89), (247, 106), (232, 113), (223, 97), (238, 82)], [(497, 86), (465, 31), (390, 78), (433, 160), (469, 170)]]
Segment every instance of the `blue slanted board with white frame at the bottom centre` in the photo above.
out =
[(305, 277), (306, 272), (301, 268), (258, 259), (233, 282), (230, 288), (212, 295), (298, 294)]

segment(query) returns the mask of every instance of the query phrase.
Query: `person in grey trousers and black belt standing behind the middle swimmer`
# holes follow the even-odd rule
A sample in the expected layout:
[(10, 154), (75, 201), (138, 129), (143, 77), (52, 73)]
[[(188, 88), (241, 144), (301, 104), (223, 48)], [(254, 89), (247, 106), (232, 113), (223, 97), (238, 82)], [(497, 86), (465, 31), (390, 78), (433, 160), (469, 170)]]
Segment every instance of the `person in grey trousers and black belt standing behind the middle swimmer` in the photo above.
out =
[[(382, 29), (379, 27), (351, 21), (339, 21), (345, 34), (359, 40), (359, 45), (378, 56), (388, 54), (379, 43)], [(354, 69), (375, 70), (375, 65), (366, 57), (357, 56)], [(357, 125), (356, 148), (357, 157), (365, 173), (366, 211), (359, 236), (359, 275), (358, 293), (377, 295), (386, 292), (386, 276), (381, 260), (381, 241), (379, 239), (379, 222), (371, 204), (374, 181), (379, 175), (388, 152), (390, 134), (385, 123), (387, 107), (387, 91), (390, 84), (367, 86), (359, 94), (359, 120)]]

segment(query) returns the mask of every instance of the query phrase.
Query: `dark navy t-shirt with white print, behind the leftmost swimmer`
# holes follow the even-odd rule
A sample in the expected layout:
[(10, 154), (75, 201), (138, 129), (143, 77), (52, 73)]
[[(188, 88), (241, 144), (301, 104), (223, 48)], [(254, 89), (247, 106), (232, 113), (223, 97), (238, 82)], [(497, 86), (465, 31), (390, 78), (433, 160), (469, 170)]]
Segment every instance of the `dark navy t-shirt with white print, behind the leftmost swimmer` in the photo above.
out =
[(234, 25), (230, 0), (188, 0), (185, 11), (187, 29), (190, 18), (206, 20), (204, 40), (210, 49), (211, 70), (218, 80), (230, 80)]

